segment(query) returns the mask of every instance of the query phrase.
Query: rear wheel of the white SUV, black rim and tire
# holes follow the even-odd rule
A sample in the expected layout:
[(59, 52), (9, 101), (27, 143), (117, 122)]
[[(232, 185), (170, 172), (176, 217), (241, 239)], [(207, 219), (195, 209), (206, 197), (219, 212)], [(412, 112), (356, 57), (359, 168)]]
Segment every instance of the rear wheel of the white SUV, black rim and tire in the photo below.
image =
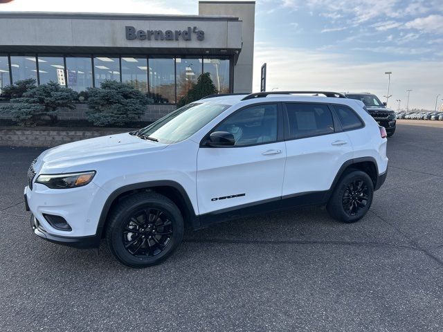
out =
[(374, 184), (370, 176), (359, 170), (350, 170), (336, 184), (326, 205), (327, 212), (338, 221), (354, 223), (368, 212), (373, 197)]

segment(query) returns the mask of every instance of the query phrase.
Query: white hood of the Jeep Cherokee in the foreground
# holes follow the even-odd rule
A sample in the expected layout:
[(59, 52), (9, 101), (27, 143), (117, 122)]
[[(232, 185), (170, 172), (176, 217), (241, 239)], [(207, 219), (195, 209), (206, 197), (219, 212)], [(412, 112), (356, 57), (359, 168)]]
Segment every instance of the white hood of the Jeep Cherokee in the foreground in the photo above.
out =
[(45, 168), (65, 172), (68, 168), (77, 165), (143, 154), (147, 151), (164, 149), (167, 146), (159, 142), (143, 140), (129, 133), (119, 133), (53, 147), (44, 151), (38, 161), (43, 162)]

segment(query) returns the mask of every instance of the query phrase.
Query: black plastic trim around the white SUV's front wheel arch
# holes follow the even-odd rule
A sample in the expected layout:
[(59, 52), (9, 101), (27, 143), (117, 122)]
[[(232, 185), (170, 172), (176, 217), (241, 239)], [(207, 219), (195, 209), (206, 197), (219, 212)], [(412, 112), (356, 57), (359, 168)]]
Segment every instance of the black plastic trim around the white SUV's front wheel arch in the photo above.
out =
[(190, 227), (193, 229), (198, 229), (201, 227), (199, 217), (195, 214), (195, 210), (189, 196), (186, 190), (179, 183), (168, 180), (150, 181), (125, 185), (117, 190), (114, 190), (114, 192), (108, 196), (107, 200), (105, 201), (105, 205), (103, 205), (100, 219), (98, 220), (96, 235), (98, 235), (100, 238), (104, 236), (107, 227), (107, 217), (118, 201), (127, 196), (145, 191), (154, 191), (168, 197), (168, 199), (177, 205), (183, 214), (185, 224), (190, 225)]

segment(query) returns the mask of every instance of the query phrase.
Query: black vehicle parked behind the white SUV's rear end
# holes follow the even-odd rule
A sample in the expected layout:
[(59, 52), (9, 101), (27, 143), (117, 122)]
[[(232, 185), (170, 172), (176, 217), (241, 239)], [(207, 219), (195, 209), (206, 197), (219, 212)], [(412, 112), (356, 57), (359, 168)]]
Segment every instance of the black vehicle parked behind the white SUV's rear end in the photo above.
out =
[(386, 128), (388, 136), (392, 136), (395, 133), (395, 111), (386, 107), (386, 102), (381, 102), (377, 95), (372, 93), (345, 93), (347, 98), (361, 100), (365, 104), (368, 113), (376, 120), (381, 126)]

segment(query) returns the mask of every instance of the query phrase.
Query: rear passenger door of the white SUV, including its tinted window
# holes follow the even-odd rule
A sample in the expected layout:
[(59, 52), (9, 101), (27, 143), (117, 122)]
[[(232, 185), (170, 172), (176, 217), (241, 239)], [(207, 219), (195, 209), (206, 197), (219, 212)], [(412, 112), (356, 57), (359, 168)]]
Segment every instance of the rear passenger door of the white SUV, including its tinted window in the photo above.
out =
[[(341, 165), (352, 159), (352, 144), (337, 131), (327, 104), (284, 103), (287, 162), (282, 196), (329, 190)], [(341, 130), (338, 129), (338, 130)]]

